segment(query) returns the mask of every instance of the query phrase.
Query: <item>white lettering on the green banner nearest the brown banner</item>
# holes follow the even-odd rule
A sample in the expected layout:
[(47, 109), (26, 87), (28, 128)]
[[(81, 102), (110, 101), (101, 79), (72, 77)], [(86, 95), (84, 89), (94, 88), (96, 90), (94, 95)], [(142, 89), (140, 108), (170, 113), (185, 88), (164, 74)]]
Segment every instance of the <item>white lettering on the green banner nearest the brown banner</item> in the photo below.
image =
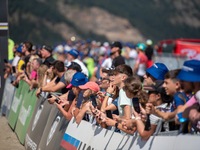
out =
[(30, 115), (31, 109), (32, 109), (31, 105), (29, 105), (28, 110), (26, 110), (26, 108), (22, 104), (21, 111), (19, 114), (19, 120), (21, 121), (23, 126), (25, 125), (27, 117)]

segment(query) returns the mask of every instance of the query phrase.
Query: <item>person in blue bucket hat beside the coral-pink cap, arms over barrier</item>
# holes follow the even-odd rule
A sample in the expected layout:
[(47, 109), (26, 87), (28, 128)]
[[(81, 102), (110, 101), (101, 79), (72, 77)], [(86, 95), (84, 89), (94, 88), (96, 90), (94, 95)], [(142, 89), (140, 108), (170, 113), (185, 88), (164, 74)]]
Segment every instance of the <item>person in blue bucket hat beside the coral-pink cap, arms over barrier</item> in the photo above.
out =
[[(72, 91), (74, 93), (74, 95), (76, 95), (76, 97), (74, 98), (70, 108), (68, 109), (68, 111), (64, 110), (62, 107), (64, 105), (66, 105), (66, 102), (64, 102), (63, 100), (59, 100), (58, 104), (56, 102), (54, 102), (58, 109), (61, 111), (61, 113), (65, 116), (65, 118), (67, 120), (70, 120), (72, 118), (72, 113), (75, 114), (76, 112), (74, 112), (76, 105), (81, 105), (82, 101), (83, 101), (83, 92), (82, 90), (79, 88), (80, 85), (84, 85), (88, 82), (88, 78), (85, 77), (85, 75), (83, 75), (81, 72), (77, 72), (73, 75), (73, 78), (70, 82), (70, 84), (72, 85)], [(77, 101), (79, 101), (80, 103), (78, 103)], [(77, 104), (76, 104), (77, 103)], [(80, 108), (80, 106), (78, 106), (76, 108)], [(77, 109), (79, 112), (79, 109)], [(78, 114), (78, 113), (77, 113)]]

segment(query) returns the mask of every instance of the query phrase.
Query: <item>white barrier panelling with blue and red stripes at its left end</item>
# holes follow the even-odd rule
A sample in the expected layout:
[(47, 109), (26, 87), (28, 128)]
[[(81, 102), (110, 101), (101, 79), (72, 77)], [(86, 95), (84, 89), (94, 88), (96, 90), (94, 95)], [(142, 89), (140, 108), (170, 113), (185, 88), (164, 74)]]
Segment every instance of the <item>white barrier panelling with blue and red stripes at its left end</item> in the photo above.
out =
[[(190, 141), (191, 139), (191, 141)], [(188, 141), (190, 143), (188, 144)], [(110, 130), (81, 121), (76, 124), (75, 119), (70, 121), (61, 146), (70, 150), (90, 149), (142, 149), (142, 150), (188, 150), (199, 149), (200, 136), (151, 136), (147, 141), (140, 136), (122, 135)]]

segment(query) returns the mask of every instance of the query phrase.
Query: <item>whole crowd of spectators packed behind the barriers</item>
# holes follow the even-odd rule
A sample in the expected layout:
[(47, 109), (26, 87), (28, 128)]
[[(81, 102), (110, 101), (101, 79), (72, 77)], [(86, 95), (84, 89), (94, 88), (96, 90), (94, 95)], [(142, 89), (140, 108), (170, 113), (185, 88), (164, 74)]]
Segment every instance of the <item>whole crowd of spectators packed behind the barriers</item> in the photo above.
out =
[[(36, 96), (47, 97), (67, 120), (72, 117), (121, 134), (153, 135), (159, 121), (162, 131), (180, 130), (199, 134), (200, 61), (185, 61), (182, 68), (168, 70), (153, 62), (152, 41), (146, 45), (119, 41), (109, 45), (86, 40), (67, 41), (54, 48), (32, 49), (32, 43), (15, 44), (14, 59), (5, 62), (5, 75), (37, 88)], [(125, 64), (133, 59), (133, 67)]]

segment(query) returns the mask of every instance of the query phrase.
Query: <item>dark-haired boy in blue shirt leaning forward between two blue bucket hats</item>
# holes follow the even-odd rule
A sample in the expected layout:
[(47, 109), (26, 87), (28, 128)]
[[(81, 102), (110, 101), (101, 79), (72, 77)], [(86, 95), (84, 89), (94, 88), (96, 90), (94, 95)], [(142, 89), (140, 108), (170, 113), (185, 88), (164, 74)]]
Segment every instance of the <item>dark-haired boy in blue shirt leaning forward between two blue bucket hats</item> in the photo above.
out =
[(163, 87), (165, 88), (166, 94), (174, 97), (171, 106), (171, 112), (161, 112), (154, 108), (152, 104), (148, 105), (148, 109), (151, 110), (151, 114), (161, 117), (163, 119), (170, 120), (177, 114), (177, 109), (183, 107), (188, 101), (188, 97), (182, 91), (180, 80), (176, 78), (179, 74), (180, 69), (170, 70), (165, 74), (165, 80)]

